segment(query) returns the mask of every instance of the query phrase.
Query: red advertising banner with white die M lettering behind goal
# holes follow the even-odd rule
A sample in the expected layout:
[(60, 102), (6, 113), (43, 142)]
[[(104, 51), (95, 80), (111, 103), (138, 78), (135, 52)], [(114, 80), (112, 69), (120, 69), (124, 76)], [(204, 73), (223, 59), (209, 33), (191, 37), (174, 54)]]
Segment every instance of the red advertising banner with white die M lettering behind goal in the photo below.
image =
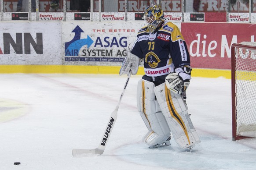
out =
[(256, 24), (249, 23), (181, 23), (181, 32), (196, 68), (231, 69), (231, 45), (256, 40)]

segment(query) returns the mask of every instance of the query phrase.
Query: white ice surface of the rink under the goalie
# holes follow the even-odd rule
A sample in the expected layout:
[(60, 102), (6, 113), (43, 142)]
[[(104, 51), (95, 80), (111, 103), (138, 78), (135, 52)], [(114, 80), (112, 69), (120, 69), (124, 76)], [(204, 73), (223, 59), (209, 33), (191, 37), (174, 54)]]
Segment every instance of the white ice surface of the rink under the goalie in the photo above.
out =
[(256, 139), (232, 141), (230, 79), (191, 80), (187, 104), (201, 143), (188, 152), (174, 139), (159, 149), (141, 142), (140, 78), (128, 83), (105, 152), (76, 158), (72, 149), (99, 145), (126, 76), (0, 74), (0, 170), (256, 169)]

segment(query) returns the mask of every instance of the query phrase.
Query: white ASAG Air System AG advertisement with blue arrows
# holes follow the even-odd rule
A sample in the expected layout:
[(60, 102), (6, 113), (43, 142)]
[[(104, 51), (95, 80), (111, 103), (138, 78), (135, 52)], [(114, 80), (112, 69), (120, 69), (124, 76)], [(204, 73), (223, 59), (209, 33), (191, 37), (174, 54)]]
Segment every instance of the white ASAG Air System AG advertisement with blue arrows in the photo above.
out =
[(144, 22), (62, 22), (64, 65), (121, 65)]

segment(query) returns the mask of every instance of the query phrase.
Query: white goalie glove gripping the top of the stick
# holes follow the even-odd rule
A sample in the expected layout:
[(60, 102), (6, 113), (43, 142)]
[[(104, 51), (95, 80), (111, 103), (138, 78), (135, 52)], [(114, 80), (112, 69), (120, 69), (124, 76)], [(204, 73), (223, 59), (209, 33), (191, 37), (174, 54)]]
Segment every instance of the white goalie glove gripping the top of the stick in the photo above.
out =
[[(127, 46), (128, 47), (128, 46)], [(119, 71), (119, 75), (129, 74), (130, 70), (132, 71), (132, 75), (137, 74), (139, 69), (140, 59), (131, 53), (130, 48), (128, 47), (127, 55), (124, 58), (123, 64)]]

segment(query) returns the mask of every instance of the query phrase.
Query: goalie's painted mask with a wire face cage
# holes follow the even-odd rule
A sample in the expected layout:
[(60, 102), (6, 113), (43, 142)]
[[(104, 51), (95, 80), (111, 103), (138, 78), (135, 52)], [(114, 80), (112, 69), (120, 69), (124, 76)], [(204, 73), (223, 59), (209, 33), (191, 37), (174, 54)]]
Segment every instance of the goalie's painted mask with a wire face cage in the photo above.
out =
[(159, 5), (152, 4), (146, 8), (143, 17), (150, 32), (154, 32), (159, 23), (164, 21), (164, 11)]

